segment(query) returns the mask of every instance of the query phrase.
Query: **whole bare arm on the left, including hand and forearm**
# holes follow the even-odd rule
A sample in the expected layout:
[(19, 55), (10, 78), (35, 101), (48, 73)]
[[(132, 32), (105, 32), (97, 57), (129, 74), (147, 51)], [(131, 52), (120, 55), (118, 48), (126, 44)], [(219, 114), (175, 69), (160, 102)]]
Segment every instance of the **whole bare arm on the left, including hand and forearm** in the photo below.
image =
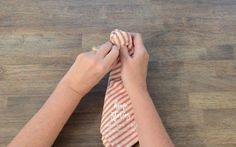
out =
[(118, 48), (110, 42), (96, 52), (78, 55), (46, 103), (9, 146), (51, 146), (81, 98), (108, 73), (118, 55)]

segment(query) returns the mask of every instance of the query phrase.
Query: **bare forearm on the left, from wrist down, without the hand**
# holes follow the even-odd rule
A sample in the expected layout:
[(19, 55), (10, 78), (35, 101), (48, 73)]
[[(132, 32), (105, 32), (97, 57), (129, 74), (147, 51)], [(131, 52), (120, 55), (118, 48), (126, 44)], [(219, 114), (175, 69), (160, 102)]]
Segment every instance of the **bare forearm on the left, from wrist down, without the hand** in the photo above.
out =
[(81, 97), (67, 86), (65, 78), (62, 79), (46, 103), (9, 146), (51, 146)]

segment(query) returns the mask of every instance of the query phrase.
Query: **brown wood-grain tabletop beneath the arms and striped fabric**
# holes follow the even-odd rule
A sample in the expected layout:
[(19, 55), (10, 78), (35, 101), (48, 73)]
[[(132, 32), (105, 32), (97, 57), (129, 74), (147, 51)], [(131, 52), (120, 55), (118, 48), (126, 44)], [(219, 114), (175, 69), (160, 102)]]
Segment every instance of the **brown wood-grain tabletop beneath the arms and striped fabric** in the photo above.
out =
[[(142, 33), (149, 91), (177, 147), (236, 146), (235, 0), (0, 1), (0, 146), (75, 57), (114, 28)], [(102, 146), (106, 82), (85, 96), (54, 146)]]

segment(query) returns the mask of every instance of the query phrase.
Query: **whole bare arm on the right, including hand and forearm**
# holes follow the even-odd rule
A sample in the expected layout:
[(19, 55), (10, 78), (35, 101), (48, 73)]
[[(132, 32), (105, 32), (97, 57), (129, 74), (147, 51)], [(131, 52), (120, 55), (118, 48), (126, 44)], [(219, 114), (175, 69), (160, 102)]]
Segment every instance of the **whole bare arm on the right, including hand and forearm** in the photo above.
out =
[(126, 47), (120, 49), (121, 77), (134, 108), (140, 146), (173, 147), (147, 90), (148, 52), (140, 34), (133, 33), (132, 37), (133, 56), (128, 54)]

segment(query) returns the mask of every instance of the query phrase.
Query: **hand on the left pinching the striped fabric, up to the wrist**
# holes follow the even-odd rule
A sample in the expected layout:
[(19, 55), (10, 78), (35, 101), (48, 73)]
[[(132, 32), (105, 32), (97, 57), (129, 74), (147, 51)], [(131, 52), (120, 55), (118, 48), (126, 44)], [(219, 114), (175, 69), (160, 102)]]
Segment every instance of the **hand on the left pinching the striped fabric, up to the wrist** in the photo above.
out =
[(81, 53), (62, 81), (83, 96), (110, 71), (118, 55), (119, 47), (110, 42), (96, 51)]

